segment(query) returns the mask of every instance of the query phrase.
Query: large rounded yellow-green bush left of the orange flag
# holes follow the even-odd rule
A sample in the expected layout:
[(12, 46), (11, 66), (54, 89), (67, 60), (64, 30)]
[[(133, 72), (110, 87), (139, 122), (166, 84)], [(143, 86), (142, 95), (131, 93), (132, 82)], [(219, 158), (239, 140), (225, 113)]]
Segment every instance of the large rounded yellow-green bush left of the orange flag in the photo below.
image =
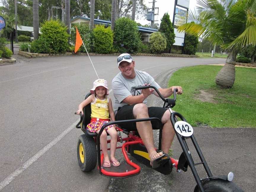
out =
[(64, 53), (68, 49), (69, 35), (66, 30), (67, 28), (59, 20), (44, 21), (41, 24), (40, 38), (49, 42), (52, 53)]

